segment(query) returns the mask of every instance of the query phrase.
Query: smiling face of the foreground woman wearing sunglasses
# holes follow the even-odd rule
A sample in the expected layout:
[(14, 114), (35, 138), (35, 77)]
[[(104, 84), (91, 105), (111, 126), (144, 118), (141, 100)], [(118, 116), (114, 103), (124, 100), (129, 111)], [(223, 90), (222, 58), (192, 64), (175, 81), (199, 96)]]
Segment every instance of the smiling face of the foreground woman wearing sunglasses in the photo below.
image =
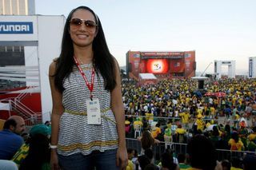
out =
[(97, 35), (94, 15), (89, 10), (79, 9), (70, 19), (70, 37), (74, 46), (91, 46)]

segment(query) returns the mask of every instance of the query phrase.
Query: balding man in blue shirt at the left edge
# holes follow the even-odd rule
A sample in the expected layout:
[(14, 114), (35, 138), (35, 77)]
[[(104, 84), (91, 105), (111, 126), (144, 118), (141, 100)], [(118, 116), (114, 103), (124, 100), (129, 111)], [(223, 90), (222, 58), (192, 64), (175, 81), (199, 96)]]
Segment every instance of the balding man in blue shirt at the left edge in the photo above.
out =
[(4, 124), (0, 132), (0, 160), (10, 160), (24, 140), (22, 132), (25, 131), (25, 121), (22, 117), (12, 116)]

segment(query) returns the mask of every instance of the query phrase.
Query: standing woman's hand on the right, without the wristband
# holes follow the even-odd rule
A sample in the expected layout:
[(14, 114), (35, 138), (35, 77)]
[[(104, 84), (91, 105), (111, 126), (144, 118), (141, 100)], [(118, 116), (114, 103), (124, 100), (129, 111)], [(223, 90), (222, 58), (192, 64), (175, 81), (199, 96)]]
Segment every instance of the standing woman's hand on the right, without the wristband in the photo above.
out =
[(128, 165), (128, 154), (126, 147), (118, 148), (117, 152), (117, 165), (120, 169), (125, 170)]

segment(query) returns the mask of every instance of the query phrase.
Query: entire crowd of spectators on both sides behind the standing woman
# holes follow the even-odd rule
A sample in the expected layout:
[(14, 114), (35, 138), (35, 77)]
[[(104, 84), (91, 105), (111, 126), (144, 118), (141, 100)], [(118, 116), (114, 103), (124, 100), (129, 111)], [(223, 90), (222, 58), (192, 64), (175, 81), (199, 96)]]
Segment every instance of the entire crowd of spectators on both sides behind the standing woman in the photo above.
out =
[[(126, 137), (138, 138), (142, 147), (139, 153), (127, 149), (126, 169), (253, 169), (256, 84), (252, 79), (244, 81), (206, 82), (207, 92), (213, 95), (196, 92), (197, 83), (191, 80), (160, 81), (158, 85), (140, 87), (134, 82), (122, 83)], [(214, 96), (217, 92), (226, 95)], [(134, 136), (135, 126), (142, 133)], [(34, 125), (29, 132), (25, 129), (22, 117), (12, 116), (4, 122), (0, 132), (1, 166), (50, 169), (50, 122)], [(186, 152), (166, 148), (158, 160), (153, 148), (163, 142), (187, 144)], [(218, 148), (250, 152), (219, 160)]]

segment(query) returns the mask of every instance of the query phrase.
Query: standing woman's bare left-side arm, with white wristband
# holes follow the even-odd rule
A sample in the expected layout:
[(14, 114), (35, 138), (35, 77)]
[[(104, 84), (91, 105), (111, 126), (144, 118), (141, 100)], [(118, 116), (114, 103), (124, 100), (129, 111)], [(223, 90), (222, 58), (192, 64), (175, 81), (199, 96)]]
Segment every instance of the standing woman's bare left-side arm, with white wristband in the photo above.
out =
[[(53, 109), (51, 113), (51, 145), (58, 144), (58, 125), (59, 119), (63, 113), (62, 106), (62, 93), (58, 91), (56, 86), (54, 85), (54, 74), (55, 74), (56, 62), (53, 61), (49, 67), (49, 81), (50, 81), (50, 90), (53, 101)], [(59, 169), (58, 167), (58, 156), (57, 156), (57, 148), (51, 149), (51, 167), (52, 169)]]

